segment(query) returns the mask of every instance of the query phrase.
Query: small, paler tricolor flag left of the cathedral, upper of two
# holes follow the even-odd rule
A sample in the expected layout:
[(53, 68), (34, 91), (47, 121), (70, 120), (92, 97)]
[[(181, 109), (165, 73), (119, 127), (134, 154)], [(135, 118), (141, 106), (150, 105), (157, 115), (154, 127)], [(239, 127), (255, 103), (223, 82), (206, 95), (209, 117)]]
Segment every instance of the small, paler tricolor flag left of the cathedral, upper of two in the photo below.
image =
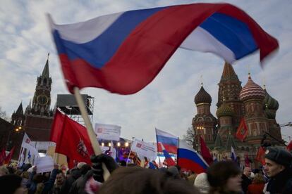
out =
[[(157, 152), (163, 152), (165, 149), (168, 153), (177, 153), (178, 149), (178, 137), (162, 131), (155, 129), (156, 131), (156, 140), (157, 140)], [(163, 147), (162, 147), (162, 145)]]

